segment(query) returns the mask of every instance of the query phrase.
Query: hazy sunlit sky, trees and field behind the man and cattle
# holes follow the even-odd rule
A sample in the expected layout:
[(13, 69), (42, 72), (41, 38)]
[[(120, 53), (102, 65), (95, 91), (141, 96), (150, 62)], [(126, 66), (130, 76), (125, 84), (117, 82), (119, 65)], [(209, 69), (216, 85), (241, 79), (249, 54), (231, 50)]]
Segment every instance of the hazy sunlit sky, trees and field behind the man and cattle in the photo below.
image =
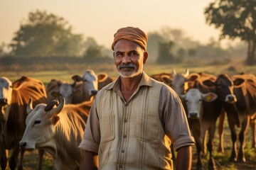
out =
[[(45, 85), (50, 79), (72, 81), (86, 69), (117, 77), (111, 45), (117, 29), (127, 26), (139, 27), (149, 37), (148, 74), (189, 69), (216, 76), (255, 75), (255, 6), (255, 0), (1, 0), (0, 76), (11, 81), (35, 77)], [(214, 152), (218, 169), (255, 169), (250, 147), (246, 164), (228, 161), (227, 123), (225, 128), (225, 153)], [(37, 166), (31, 153), (26, 169)], [(48, 157), (44, 169), (51, 167)]]

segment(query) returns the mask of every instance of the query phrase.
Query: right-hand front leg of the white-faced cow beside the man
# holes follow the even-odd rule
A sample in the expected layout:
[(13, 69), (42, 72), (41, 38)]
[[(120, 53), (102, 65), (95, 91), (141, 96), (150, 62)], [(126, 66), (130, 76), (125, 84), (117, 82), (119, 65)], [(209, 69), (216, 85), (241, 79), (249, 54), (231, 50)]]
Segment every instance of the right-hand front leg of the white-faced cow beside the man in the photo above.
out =
[(207, 149), (210, 153), (210, 158), (209, 158), (209, 162), (208, 162), (208, 169), (213, 170), (213, 169), (216, 169), (215, 162), (214, 162), (213, 155), (212, 155), (212, 153), (213, 153), (213, 139), (214, 139), (214, 133), (215, 133), (215, 123), (211, 123), (211, 127), (208, 131), (209, 131), (209, 140), (208, 140), (208, 143), (207, 143)]

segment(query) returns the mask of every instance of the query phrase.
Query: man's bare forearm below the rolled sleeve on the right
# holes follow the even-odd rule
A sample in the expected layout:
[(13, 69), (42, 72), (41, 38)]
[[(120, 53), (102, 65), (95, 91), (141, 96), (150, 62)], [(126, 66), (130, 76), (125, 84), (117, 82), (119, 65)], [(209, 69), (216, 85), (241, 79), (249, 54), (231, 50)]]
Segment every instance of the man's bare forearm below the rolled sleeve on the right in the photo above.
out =
[(192, 164), (192, 147), (181, 147), (177, 153), (177, 170), (190, 170)]

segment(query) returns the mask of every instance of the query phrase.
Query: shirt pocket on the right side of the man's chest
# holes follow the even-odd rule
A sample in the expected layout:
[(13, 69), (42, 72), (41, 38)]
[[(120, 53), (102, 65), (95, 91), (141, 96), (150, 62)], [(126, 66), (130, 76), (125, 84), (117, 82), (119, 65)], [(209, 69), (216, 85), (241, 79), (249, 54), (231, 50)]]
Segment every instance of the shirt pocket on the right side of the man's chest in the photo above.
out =
[(152, 115), (139, 114), (136, 120), (136, 138), (144, 142), (159, 143), (159, 118)]

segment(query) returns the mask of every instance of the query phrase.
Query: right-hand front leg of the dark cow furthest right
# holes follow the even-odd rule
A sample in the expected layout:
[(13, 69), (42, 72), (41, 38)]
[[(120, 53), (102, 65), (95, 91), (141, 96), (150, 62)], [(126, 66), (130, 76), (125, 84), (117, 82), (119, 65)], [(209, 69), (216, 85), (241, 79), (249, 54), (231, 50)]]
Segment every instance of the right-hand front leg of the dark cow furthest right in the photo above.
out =
[(249, 116), (242, 122), (242, 127), (239, 133), (240, 149), (238, 154), (238, 162), (246, 162), (245, 159), (245, 135), (249, 126)]

